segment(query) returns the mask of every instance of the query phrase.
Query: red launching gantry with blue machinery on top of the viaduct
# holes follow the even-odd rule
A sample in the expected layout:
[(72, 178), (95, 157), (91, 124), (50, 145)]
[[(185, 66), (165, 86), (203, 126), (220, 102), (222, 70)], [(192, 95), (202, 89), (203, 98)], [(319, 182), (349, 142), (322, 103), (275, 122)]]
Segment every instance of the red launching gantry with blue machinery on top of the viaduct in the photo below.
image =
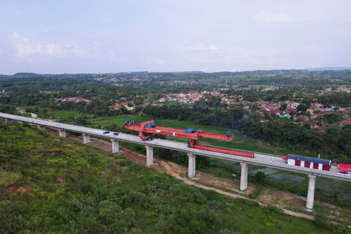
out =
[[(229, 149), (229, 148), (225, 149), (225, 148), (219, 148), (219, 147), (215, 147), (215, 146), (204, 146), (204, 145), (198, 144), (200, 137), (218, 139), (218, 140), (227, 140), (229, 142), (229, 141), (234, 139), (234, 136), (231, 132), (228, 132), (226, 135), (223, 135), (223, 134), (216, 134), (216, 133), (206, 133), (206, 132), (203, 132), (201, 130), (196, 130), (193, 128), (177, 129), (177, 128), (160, 127), (160, 126), (157, 126), (157, 124), (155, 124), (153, 120), (143, 122), (143, 123), (137, 123), (134, 121), (125, 121), (124, 127), (129, 129), (129, 130), (138, 131), (140, 138), (143, 139), (144, 141), (145, 140), (152, 140), (153, 137), (155, 136), (155, 134), (176, 136), (176, 137), (181, 137), (181, 138), (187, 138), (189, 148), (203, 149), (206, 151), (212, 151), (212, 152), (254, 158), (253, 153), (236, 151), (236, 150)], [(151, 133), (151, 135), (144, 136), (143, 135), (144, 132)]]

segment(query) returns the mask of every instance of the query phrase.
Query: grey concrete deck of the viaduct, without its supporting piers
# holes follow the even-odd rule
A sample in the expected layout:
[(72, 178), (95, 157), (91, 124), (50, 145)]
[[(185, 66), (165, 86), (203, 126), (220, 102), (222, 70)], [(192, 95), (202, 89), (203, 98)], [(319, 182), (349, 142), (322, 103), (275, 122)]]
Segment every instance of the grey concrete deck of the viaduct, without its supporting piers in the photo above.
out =
[(337, 168), (335, 166), (331, 167), (331, 171), (322, 171), (317, 169), (287, 165), (286, 161), (282, 159), (283, 157), (279, 155), (253, 152), (255, 158), (246, 158), (242, 156), (188, 148), (187, 143), (183, 143), (183, 142), (174, 142), (171, 140), (160, 140), (160, 139), (155, 139), (153, 141), (143, 141), (140, 139), (139, 136), (136, 136), (136, 135), (119, 133), (118, 136), (115, 136), (113, 135), (114, 132), (111, 132), (111, 131), (109, 134), (103, 134), (105, 131), (108, 131), (108, 129), (101, 130), (101, 129), (95, 129), (95, 128), (81, 127), (77, 125), (70, 125), (66, 123), (33, 119), (33, 118), (24, 117), (24, 116), (11, 115), (11, 114), (5, 114), (5, 113), (0, 113), (0, 118), (7, 119), (7, 120), (15, 120), (18, 122), (25, 122), (32, 125), (44, 126), (47, 128), (62, 129), (69, 132), (76, 132), (81, 134), (98, 136), (102, 138), (114, 139), (118, 141), (137, 143), (145, 146), (154, 146), (154, 147), (172, 149), (176, 151), (182, 151), (186, 153), (203, 155), (203, 156), (224, 159), (224, 160), (229, 160), (234, 162), (250, 163), (254, 165), (277, 168), (285, 171), (299, 172), (299, 173), (304, 173), (308, 175), (316, 175), (316, 176), (322, 176), (322, 177), (327, 177), (327, 178), (332, 178), (337, 180), (351, 181), (350, 175), (337, 173)]

